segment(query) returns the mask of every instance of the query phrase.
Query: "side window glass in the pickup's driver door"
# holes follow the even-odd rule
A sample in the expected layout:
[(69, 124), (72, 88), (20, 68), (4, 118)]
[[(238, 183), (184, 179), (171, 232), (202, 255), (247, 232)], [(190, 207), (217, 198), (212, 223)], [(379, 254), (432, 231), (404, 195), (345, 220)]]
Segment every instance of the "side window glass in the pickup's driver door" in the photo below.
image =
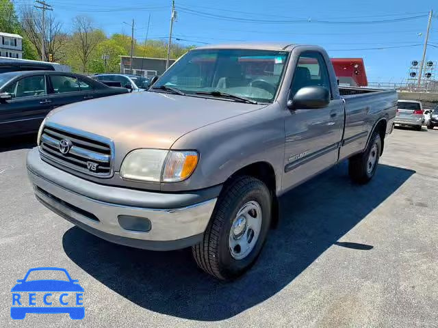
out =
[(298, 59), (292, 81), (291, 94), (293, 97), (302, 87), (320, 86), (331, 91), (329, 72), (324, 58), (320, 53), (306, 51)]

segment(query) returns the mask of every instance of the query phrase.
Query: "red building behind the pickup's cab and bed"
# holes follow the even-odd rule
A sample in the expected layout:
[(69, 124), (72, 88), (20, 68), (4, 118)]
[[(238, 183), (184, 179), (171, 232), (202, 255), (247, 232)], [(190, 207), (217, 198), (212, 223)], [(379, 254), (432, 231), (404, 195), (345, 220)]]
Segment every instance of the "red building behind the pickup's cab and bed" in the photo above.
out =
[(362, 58), (331, 58), (339, 85), (366, 87), (368, 85)]

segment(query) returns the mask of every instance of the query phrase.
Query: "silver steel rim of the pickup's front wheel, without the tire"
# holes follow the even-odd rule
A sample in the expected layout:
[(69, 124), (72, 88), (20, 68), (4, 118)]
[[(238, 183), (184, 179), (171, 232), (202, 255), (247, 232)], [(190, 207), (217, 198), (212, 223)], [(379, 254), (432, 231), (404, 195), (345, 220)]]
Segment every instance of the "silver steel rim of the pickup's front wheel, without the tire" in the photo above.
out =
[(258, 202), (246, 202), (233, 219), (229, 233), (229, 250), (235, 260), (242, 260), (257, 244), (261, 230), (262, 214)]

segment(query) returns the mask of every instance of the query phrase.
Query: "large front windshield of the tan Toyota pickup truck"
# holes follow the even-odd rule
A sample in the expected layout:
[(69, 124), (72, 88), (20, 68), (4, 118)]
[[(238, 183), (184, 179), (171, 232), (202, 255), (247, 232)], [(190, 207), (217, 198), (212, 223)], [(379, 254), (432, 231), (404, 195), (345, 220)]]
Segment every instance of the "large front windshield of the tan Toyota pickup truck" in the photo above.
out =
[(219, 91), (257, 102), (272, 102), (288, 55), (287, 51), (194, 50), (169, 68), (154, 87), (175, 87), (188, 95)]

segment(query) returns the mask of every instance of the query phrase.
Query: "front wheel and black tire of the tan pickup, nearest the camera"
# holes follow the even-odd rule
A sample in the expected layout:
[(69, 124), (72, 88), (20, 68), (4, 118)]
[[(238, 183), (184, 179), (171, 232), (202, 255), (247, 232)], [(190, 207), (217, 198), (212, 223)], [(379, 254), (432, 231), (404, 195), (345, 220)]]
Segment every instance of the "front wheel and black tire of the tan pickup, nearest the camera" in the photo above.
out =
[(192, 247), (198, 267), (221, 280), (247, 271), (266, 241), (271, 205), (261, 180), (241, 176), (231, 182), (218, 199), (203, 241)]

